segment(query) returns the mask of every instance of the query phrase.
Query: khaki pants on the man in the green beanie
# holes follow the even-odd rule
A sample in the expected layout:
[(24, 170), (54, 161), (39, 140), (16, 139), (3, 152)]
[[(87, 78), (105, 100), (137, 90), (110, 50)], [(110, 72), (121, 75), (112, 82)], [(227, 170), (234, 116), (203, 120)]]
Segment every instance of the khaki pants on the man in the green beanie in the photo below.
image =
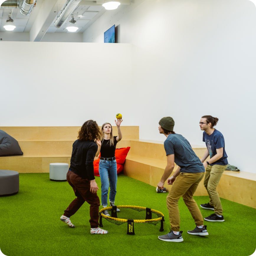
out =
[(196, 225), (204, 224), (203, 216), (193, 199), (193, 194), (199, 182), (204, 177), (204, 173), (183, 173), (176, 178), (173, 186), (166, 198), (167, 208), (169, 211), (169, 220), (172, 231), (180, 231), (180, 214), (178, 201), (182, 196), (188, 210), (190, 211)]

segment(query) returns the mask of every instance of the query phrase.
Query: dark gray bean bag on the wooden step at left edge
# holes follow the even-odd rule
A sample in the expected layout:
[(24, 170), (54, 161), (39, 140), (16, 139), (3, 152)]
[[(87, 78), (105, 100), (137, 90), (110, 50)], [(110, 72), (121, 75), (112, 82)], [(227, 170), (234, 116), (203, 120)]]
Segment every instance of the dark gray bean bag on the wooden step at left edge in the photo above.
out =
[(0, 156), (4, 155), (23, 155), (23, 152), (17, 140), (0, 130)]

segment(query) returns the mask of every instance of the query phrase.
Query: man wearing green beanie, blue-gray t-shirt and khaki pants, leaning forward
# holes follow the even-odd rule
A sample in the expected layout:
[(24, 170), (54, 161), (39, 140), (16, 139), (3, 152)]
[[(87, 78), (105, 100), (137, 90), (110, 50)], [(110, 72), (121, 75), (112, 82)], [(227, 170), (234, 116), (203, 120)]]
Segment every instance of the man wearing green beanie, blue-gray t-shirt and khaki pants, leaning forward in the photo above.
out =
[[(173, 127), (174, 120), (170, 116), (163, 117), (159, 121), (159, 132), (166, 137), (164, 147), (167, 156), (167, 165), (157, 187), (163, 189), (164, 183), (168, 179), (167, 184), (172, 185), (172, 188), (166, 198), (171, 227), (170, 232), (158, 238), (166, 242), (182, 242), (183, 231), (180, 231), (180, 214), (178, 208), (180, 197), (183, 197), (183, 201), (196, 223), (195, 229), (188, 230), (188, 234), (199, 236), (208, 235), (206, 226), (204, 226), (203, 216), (193, 199), (193, 194), (199, 182), (204, 177), (205, 169), (200, 159), (192, 150), (188, 140), (182, 135), (173, 132)], [(178, 165), (178, 168), (170, 176), (174, 169), (174, 162)]]

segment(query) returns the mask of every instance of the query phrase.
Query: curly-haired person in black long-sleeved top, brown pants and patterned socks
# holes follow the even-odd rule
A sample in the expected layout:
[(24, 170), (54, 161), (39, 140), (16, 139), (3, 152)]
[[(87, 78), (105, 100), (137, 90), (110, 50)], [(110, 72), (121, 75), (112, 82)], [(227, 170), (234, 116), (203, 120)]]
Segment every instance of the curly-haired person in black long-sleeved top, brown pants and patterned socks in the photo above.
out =
[(101, 143), (99, 138), (99, 126), (93, 120), (86, 121), (78, 132), (78, 140), (73, 143), (70, 168), (67, 173), (67, 181), (77, 198), (70, 203), (60, 217), (61, 221), (74, 228), (75, 225), (71, 223), (70, 216), (75, 214), (86, 201), (90, 204), (91, 234), (108, 233), (107, 230), (98, 227), (100, 200), (97, 196), (99, 188), (94, 177), (93, 159)]

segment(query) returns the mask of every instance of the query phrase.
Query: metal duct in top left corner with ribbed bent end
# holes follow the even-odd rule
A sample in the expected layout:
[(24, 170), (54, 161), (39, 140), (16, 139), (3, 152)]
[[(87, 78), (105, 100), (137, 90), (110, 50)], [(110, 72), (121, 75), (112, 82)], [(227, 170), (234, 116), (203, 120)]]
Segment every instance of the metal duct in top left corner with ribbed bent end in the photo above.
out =
[(32, 12), (35, 2), (36, 0), (8, 0), (3, 2), (0, 8), (18, 8), (22, 15), (27, 16)]

